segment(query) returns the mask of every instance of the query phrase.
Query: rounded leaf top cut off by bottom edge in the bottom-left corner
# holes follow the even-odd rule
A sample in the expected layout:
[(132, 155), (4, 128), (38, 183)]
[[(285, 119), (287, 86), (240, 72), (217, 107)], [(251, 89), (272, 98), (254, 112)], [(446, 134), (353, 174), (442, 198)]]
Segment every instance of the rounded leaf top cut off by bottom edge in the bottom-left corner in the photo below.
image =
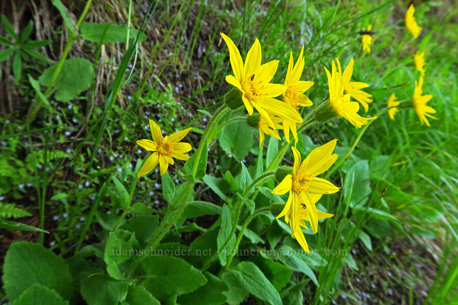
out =
[(33, 285), (13, 302), (13, 305), (68, 305), (59, 293), (42, 285)]

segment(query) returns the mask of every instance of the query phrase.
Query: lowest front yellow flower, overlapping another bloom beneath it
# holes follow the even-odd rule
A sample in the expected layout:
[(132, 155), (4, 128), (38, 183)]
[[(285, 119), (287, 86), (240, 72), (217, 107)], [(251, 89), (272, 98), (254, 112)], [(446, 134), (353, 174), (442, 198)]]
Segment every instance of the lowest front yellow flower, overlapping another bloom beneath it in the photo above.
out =
[(337, 139), (313, 149), (301, 163), (301, 155), (296, 147), (291, 147), (294, 155), (294, 166), (291, 174), (288, 174), (280, 184), (272, 191), (274, 194), (283, 195), (290, 192), (288, 201), (277, 219), (289, 215), (292, 233), (296, 233), (300, 225), (301, 203), (308, 210), (312, 231), (318, 231), (318, 210), (315, 202), (310, 200), (311, 194), (333, 194), (339, 190), (328, 180), (318, 178), (317, 175), (325, 172), (337, 160), (337, 154), (332, 154)]

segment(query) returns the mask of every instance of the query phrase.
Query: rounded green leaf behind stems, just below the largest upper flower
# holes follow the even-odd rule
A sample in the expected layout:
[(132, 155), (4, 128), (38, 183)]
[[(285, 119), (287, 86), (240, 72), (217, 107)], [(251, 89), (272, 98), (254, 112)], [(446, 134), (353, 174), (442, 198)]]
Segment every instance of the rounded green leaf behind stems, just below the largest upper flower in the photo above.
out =
[(251, 128), (238, 121), (228, 124), (219, 138), (219, 145), (227, 154), (233, 154), (237, 159), (245, 158), (253, 146)]

